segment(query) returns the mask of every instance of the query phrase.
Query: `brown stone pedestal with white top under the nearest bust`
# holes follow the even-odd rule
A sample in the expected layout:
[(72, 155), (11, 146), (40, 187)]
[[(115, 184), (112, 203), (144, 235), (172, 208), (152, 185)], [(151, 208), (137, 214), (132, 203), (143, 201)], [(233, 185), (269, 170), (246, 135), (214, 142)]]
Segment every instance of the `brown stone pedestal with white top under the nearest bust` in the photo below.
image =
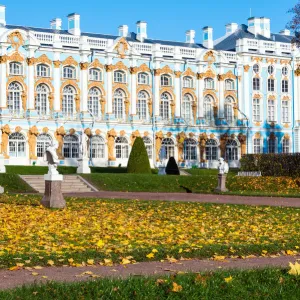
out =
[(47, 208), (65, 208), (66, 201), (61, 192), (62, 175), (47, 174), (45, 178), (45, 194), (41, 204)]

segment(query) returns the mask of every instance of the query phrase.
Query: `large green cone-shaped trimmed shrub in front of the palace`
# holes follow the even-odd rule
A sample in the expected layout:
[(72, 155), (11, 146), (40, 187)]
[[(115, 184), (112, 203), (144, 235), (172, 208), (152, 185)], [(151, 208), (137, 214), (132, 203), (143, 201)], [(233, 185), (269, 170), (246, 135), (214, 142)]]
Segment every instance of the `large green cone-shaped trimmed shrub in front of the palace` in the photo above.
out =
[(137, 137), (131, 149), (127, 173), (152, 174), (148, 153), (141, 137)]

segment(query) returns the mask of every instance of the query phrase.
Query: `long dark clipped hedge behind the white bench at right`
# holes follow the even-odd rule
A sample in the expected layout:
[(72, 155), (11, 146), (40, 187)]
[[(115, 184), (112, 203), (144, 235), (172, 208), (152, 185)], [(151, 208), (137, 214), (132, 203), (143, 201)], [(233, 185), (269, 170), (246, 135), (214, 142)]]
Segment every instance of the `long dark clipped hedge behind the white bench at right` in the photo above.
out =
[(240, 162), (241, 171), (260, 171), (262, 176), (300, 177), (300, 153), (247, 154)]

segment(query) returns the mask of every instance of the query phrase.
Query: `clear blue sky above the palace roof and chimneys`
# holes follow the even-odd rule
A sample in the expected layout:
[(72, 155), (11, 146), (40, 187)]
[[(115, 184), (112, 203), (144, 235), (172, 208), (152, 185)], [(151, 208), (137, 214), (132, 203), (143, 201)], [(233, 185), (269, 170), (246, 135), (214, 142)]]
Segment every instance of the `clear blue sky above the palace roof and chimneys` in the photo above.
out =
[(6, 5), (8, 24), (49, 28), (52, 18), (63, 19), (66, 15), (81, 15), (81, 30), (85, 32), (117, 34), (121, 24), (136, 32), (136, 21), (148, 22), (148, 37), (185, 41), (185, 31), (196, 30), (196, 41), (201, 42), (201, 29), (214, 28), (214, 39), (225, 33), (225, 24), (246, 23), (252, 16), (271, 19), (272, 32), (283, 29), (291, 16), (289, 8), (297, 0), (0, 0)]

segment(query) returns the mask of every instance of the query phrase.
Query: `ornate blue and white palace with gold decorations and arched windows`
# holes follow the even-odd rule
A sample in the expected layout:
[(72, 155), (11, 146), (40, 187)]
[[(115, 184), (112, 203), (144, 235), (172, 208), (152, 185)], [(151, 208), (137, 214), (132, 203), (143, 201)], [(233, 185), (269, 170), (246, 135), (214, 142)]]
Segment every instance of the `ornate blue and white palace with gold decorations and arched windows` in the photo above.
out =
[[(50, 28), (6, 24), (0, 6), (1, 152), (7, 165), (44, 165), (57, 140), (60, 164), (76, 166), (81, 135), (90, 165), (127, 165), (141, 136), (152, 166), (238, 167), (246, 153), (300, 151), (300, 53), (270, 19), (195, 31), (185, 41), (148, 37), (138, 21), (118, 35), (86, 33), (80, 15)], [(164, 153), (161, 153), (163, 149)]]

